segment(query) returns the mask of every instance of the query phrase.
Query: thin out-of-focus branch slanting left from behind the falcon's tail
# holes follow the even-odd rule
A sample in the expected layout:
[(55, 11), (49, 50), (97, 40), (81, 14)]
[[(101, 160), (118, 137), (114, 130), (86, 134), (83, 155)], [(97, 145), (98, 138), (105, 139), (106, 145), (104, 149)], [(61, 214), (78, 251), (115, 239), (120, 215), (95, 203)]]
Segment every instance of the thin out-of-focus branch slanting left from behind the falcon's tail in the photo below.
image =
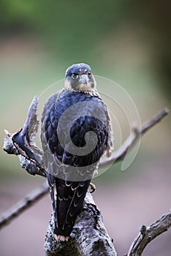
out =
[(43, 184), (41, 187), (34, 189), (30, 192), (26, 197), (18, 203), (15, 203), (12, 208), (9, 208), (8, 211), (5, 211), (4, 214), (1, 214), (0, 217), (0, 229), (5, 225), (9, 224), (15, 217), (18, 217), (23, 211), (36, 203), (39, 199), (41, 199), (48, 192), (47, 182)]

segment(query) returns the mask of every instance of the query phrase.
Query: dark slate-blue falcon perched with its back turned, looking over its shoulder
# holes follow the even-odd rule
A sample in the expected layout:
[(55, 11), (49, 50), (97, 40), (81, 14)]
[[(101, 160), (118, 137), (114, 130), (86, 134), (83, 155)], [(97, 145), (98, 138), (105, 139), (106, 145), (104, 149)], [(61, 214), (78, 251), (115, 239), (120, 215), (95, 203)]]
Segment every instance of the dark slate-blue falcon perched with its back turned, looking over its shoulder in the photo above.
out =
[(99, 160), (113, 147), (110, 115), (88, 64), (66, 69), (64, 89), (47, 99), (41, 140), (54, 236), (68, 241)]

